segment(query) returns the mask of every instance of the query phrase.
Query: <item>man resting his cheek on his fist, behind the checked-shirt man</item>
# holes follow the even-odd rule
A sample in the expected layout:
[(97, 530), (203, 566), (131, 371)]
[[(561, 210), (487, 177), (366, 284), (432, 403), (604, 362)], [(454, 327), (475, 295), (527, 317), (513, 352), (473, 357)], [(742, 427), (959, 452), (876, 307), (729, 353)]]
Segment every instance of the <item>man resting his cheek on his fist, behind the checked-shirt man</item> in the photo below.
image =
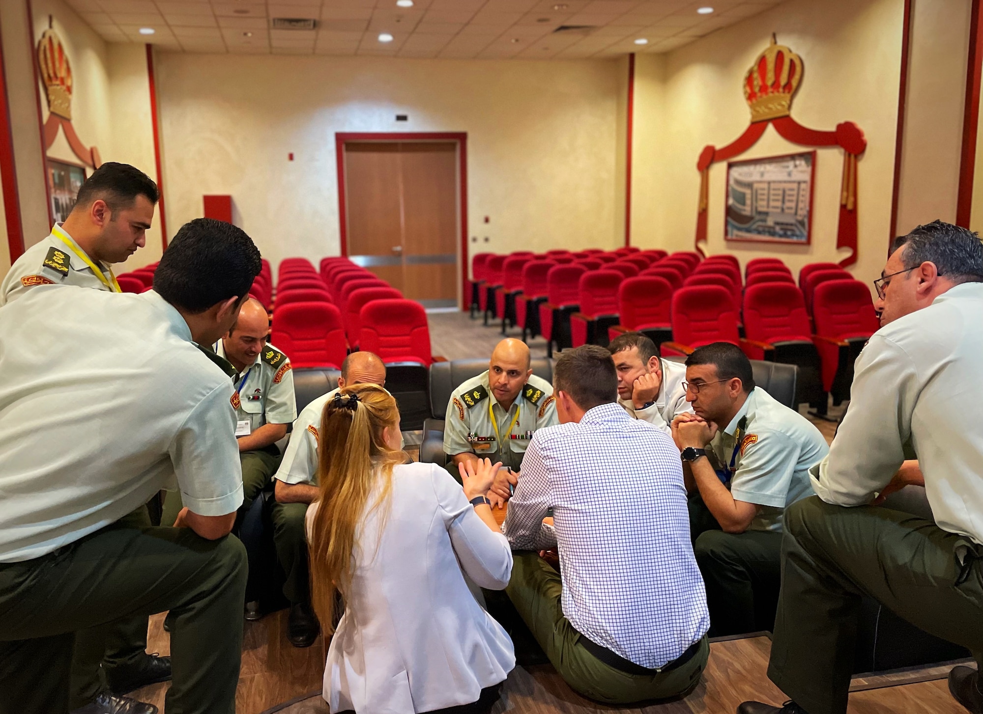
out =
[(636, 419), (671, 435), (676, 414), (693, 413), (686, 401), (686, 366), (670, 362), (641, 332), (625, 332), (607, 346), (617, 371), (617, 403)]

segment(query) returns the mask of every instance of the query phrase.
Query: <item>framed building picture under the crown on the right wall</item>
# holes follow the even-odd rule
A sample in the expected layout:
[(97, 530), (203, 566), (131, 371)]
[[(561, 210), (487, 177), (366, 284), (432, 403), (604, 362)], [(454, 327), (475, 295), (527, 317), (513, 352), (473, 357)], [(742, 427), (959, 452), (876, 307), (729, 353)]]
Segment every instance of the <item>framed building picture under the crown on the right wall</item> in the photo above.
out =
[(727, 163), (723, 238), (808, 246), (816, 152)]

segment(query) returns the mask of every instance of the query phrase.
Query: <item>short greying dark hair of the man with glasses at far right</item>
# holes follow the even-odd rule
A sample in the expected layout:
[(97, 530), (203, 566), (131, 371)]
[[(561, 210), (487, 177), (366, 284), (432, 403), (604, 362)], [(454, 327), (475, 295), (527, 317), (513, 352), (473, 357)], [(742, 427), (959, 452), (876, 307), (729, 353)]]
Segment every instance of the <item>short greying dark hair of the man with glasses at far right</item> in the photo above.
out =
[(898, 236), (892, 252), (902, 246), (901, 262), (905, 269), (917, 268), (928, 261), (935, 263), (939, 275), (956, 284), (983, 281), (983, 243), (968, 228), (932, 221), (917, 226), (906, 236)]

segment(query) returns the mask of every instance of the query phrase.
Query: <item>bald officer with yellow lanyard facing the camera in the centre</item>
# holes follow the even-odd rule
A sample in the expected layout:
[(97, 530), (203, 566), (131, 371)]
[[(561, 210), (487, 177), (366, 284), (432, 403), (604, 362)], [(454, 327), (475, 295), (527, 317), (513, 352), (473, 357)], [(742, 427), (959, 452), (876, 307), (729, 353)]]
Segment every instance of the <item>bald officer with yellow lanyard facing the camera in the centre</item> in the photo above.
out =
[(554, 402), (549, 382), (530, 368), (529, 347), (502, 340), (488, 371), (451, 394), (443, 432), (447, 469), (460, 480), (458, 464), (488, 458), (518, 471), (536, 430), (559, 423)]

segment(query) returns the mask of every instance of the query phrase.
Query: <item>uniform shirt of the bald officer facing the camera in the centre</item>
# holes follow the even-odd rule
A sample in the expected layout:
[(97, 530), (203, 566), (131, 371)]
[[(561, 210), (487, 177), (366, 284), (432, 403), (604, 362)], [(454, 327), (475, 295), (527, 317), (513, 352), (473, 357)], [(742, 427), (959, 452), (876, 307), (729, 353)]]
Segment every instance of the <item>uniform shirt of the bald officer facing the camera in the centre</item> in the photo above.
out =
[[(443, 450), (448, 456), (470, 452), (518, 470), (533, 434), (538, 429), (559, 423), (555, 401), (549, 382), (534, 374), (506, 412), (489, 388), (486, 370), (451, 394), (443, 430)], [(516, 412), (519, 413), (518, 420), (509, 431)], [(499, 436), (504, 446), (498, 443)]]

